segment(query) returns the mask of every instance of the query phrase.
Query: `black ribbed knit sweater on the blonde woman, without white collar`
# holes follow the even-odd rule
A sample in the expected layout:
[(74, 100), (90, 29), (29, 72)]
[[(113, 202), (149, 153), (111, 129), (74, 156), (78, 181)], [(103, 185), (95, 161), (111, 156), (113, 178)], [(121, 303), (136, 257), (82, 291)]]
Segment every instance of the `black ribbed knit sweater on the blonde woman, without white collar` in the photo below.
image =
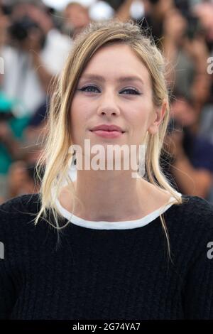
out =
[(213, 205), (183, 198), (164, 213), (173, 262), (160, 217), (126, 230), (70, 224), (58, 244), (45, 220), (33, 225), (38, 194), (7, 201), (0, 206), (0, 318), (213, 318)]

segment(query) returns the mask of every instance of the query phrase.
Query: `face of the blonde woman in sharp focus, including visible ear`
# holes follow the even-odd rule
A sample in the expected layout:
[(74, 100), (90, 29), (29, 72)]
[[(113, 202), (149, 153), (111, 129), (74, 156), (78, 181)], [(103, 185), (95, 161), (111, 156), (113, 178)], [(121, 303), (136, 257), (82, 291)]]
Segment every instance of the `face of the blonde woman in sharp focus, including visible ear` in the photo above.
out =
[[(165, 113), (166, 105), (154, 107), (152, 97), (148, 70), (129, 45), (105, 45), (77, 84), (70, 109), (72, 143), (82, 149), (84, 139), (90, 139), (91, 147), (143, 144), (146, 131), (155, 134)], [(119, 126), (122, 132), (107, 138), (91, 131), (100, 124)]]

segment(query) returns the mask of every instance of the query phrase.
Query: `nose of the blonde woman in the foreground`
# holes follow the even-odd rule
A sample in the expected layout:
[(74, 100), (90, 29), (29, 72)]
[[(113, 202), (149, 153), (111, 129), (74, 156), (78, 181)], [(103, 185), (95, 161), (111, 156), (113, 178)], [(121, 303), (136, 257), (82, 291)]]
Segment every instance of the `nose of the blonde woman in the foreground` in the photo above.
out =
[(106, 115), (107, 117), (118, 116), (120, 114), (119, 105), (116, 102), (114, 92), (102, 93), (98, 101), (97, 114), (100, 116)]

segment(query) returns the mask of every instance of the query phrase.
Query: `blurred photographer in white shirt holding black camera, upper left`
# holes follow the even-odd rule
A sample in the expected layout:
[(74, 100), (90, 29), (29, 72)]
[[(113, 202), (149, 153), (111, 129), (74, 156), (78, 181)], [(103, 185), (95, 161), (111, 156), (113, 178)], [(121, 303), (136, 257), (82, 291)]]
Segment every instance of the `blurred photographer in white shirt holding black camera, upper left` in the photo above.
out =
[(60, 72), (70, 43), (54, 28), (45, 6), (33, 2), (13, 6), (8, 36), (10, 45), (1, 51), (2, 89), (33, 114), (45, 102), (50, 80)]

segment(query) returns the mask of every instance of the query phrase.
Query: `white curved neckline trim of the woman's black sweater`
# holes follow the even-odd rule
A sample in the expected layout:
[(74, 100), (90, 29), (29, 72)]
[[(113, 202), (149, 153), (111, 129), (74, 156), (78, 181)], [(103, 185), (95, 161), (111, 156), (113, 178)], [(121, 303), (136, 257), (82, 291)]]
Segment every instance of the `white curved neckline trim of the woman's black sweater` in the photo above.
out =
[[(177, 195), (180, 197), (182, 196), (181, 193), (176, 191)], [(73, 215), (71, 212), (66, 210), (60, 204), (58, 198), (56, 198), (55, 203), (58, 207), (59, 212), (61, 213), (62, 217), (65, 217), (67, 220), (70, 220), (74, 225), (78, 225), (81, 227), (86, 227), (94, 230), (131, 230), (137, 227), (143, 227), (148, 225), (150, 222), (153, 222), (157, 217), (163, 214), (168, 208), (170, 208), (174, 203), (175, 200), (173, 196), (170, 197), (168, 205), (163, 205), (159, 209), (151, 212), (150, 214), (146, 215), (145, 217), (139, 218), (137, 220), (125, 220), (120, 222), (107, 222), (107, 221), (92, 221), (92, 220), (84, 220), (83, 218), (77, 217)]]

